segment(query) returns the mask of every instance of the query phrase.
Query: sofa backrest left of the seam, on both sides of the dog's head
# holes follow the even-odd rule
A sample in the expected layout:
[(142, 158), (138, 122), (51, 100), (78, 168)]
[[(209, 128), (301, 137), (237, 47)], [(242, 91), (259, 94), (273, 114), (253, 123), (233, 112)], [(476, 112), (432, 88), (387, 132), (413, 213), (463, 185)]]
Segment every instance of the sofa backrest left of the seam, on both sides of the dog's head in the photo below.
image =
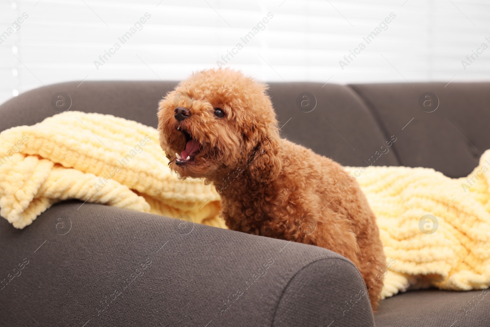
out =
[[(123, 117), (156, 127), (156, 110), (175, 81), (66, 82), (34, 89), (0, 107), (0, 131), (34, 125), (58, 111), (51, 100), (58, 92), (70, 96), (70, 110)], [(303, 112), (296, 99), (309, 92), (316, 99), (311, 112)], [(348, 166), (365, 164), (386, 138), (362, 99), (349, 87), (320, 83), (270, 83), (269, 95), (280, 122), (281, 136)], [(285, 124), (287, 123), (287, 124)], [(383, 154), (376, 166), (399, 165), (394, 151)]]

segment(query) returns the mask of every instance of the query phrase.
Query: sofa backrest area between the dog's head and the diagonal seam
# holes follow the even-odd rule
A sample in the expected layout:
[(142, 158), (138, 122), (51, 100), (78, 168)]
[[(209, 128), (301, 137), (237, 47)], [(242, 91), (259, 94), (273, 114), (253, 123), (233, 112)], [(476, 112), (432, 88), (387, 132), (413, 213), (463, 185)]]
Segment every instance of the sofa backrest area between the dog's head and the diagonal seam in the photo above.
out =
[[(310, 93), (304, 101), (316, 102), (312, 111), (298, 109), (298, 96), (304, 92)], [(399, 166), (395, 152), (386, 148), (386, 141), (393, 134), (383, 134), (363, 100), (349, 87), (270, 83), (269, 94), (282, 126), (281, 137), (344, 166), (366, 166), (366, 161), (385, 146), (383, 149), (388, 152), (377, 158), (374, 165)]]

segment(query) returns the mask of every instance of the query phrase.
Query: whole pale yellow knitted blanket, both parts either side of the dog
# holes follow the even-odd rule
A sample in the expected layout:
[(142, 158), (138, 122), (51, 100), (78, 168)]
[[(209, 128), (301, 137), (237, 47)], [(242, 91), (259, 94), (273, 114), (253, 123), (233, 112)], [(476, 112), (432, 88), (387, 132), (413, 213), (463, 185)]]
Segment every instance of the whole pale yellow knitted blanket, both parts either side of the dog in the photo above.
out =
[[(490, 150), (467, 178), (433, 169), (346, 167), (366, 193), (387, 256), (383, 298), (400, 290), (487, 288)], [(220, 197), (168, 168), (156, 129), (68, 111), (0, 133), (0, 215), (24, 228), (53, 203), (103, 203), (226, 228)], [(376, 282), (376, 281), (373, 281)]]

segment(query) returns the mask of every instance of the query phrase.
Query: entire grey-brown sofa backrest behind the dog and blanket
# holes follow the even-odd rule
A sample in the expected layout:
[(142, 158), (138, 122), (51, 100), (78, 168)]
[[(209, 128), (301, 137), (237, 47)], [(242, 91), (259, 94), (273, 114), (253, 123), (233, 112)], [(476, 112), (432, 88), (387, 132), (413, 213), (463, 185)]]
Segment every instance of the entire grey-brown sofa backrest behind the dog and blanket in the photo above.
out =
[[(70, 110), (112, 114), (156, 127), (158, 101), (175, 85), (162, 81), (49, 85), (0, 105), (0, 131), (34, 125), (57, 114), (51, 102), (58, 92), (70, 96)], [(469, 174), (490, 148), (489, 88), (490, 83), (290, 82), (270, 83), (269, 94), (282, 137), (343, 165), (428, 167), (460, 177)], [(425, 98), (426, 92), (436, 97)], [(420, 104), (421, 96), (431, 100)], [(428, 112), (436, 98), (437, 109)]]

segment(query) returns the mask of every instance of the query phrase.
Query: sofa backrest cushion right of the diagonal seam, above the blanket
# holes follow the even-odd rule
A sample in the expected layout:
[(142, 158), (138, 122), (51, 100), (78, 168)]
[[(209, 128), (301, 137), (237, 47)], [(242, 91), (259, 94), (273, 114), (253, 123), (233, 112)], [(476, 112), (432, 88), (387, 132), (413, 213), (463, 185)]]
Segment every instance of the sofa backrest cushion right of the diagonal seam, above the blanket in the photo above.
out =
[[(364, 100), (380, 129), (398, 137), (393, 150), (400, 166), (434, 168), (448, 177), (463, 177), (490, 149), (490, 83), (351, 87)], [(439, 106), (433, 112), (427, 112), (433, 108), (422, 110), (423, 105), (419, 104), (427, 92), (437, 96), (433, 104)]]

